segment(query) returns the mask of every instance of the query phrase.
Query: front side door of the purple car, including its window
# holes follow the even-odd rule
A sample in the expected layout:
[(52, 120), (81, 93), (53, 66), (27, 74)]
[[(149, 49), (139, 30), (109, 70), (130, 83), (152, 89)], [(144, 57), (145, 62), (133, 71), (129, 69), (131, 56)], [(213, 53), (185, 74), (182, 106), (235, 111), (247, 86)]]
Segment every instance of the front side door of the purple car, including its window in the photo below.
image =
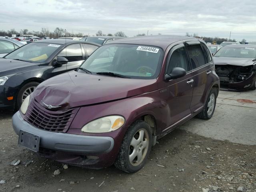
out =
[[(184, 68), (189, 71), (188, 56), (184, 44), (174, 46), (168, 56), (166, 74), (170, 74), (174, 67)], [(177, 78), (166, 82), (168, 92), (167, 104), (170, 109), (170, 117), (167, 127), (162, 133), (169, 132), (176, 124), (191, 116), (190, 103), (192, 100), (193, 86), (190, 82), (190, 76)]]

